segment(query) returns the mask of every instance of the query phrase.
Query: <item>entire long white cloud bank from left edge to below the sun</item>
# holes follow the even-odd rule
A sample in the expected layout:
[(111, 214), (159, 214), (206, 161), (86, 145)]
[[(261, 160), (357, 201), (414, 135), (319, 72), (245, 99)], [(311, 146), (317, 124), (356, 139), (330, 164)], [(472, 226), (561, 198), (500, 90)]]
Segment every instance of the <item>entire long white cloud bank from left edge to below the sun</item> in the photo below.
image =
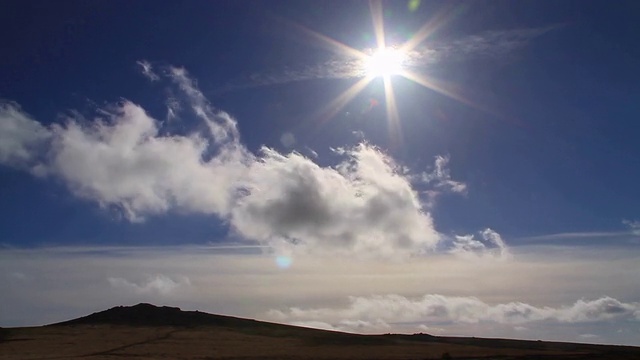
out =
[[(150, 71), (145, 64), (143, 71)], [(208, 132), (168, 134), (130, 101), (101, 109), (92, 122), (74, 114), (49, 127), (7, 105), (0, 159), (30, 164), (46, 143), (46, 162), (38, 165), (43, 174), (130, 221), (172, 210), (211, 214), (280, 251), (398, 258), (441, 240), (414, 177), (380, 149), (366, 143), (342, 148), (342, 161), (324, 167), (296, 152), (264, 147), (254, 155), (240, 143), (236, 121), (208, 102), (186, 70), (169, 67), (162, 74)], [(447, 162), (436, 158), (431, 186), (463, 191)], [(485, 241), (501, 246), (491, 236)]]

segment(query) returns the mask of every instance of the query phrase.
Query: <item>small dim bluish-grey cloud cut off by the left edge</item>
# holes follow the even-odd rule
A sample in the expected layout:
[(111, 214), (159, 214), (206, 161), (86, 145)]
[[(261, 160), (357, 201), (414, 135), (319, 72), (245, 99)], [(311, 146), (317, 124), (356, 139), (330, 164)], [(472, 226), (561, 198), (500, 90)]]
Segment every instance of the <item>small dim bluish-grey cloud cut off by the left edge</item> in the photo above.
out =
[(12, 102), (0, 102), (0, 164), (35, 166), (49, 132)]

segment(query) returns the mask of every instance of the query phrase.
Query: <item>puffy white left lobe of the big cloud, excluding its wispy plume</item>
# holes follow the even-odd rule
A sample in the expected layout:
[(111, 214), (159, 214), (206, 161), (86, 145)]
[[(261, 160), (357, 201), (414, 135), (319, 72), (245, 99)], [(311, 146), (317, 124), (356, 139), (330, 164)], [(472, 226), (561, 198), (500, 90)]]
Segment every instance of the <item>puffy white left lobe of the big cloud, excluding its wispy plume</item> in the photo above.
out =
[(208, 142), (159, 136), (157, 122), (125, 102), (108, 120), (54, 125), (50, 172), (78, 196), (117, 206), (132, 221), (178, 209), (224, 215), (243, 171), (241, 153), (222, 149), (206, 162)]

